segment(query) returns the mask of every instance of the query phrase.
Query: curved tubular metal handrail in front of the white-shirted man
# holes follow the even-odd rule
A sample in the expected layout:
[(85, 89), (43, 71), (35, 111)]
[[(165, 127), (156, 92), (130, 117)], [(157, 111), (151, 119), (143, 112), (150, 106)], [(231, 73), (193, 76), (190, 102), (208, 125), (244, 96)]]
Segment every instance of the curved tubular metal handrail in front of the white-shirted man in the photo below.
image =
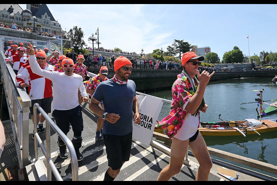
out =
[(37, 110), (40, 111), (42, 116), (45, 118), (46, 122), (46, 147), (44, 146), (42, 140), (40, 139), (40, 136), (38, 135), (38, 128), (37, 128), (37, 116), (34, 117), (34, 139), (35, 139), (35, 160), (38, 159), (38, 144), (40, 145), (40, 148), (42, 149), (42, 152), (46, 158), (46, 169), (47, 169), (47, 180), (52, 180), (51, 172), (53, 171), (54, 176), (58, 181), (63, 181), (61, 178), (61, 175), (59, 171), (57, 170), (54, 162), (51, 159), (51, 140), (50, 140), (50, 126), (57, 132), (57, 134), (61, 137), (65, 145), (68, 147), (70, 158), (71, 158), (71, 167), (72, 167), (72, 181), (78, 181), (78, 160), (76, 156), (76, 152), (74, 149), (74, 146), (70, 139), (61, 131), (61, 129), (52, 121), (52, 119), (48, 116), (48, 114), (40, 107), (38, 103), (34, 104), (33, 107), (33, 113), (34, 115), (37, 115)]

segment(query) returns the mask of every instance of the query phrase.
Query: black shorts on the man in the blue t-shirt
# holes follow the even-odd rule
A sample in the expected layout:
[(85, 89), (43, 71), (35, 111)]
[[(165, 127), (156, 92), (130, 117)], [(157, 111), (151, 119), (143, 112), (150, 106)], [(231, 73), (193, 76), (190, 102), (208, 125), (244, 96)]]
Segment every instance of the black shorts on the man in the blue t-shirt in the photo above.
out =
[(104, 135), (108, 166), (110, 166), (113, 170), (121, 168), (122, 162), (130, 159), (133, 136), (132, 133), (133, 132), (130, 132), (124, 136), (111, 134)]

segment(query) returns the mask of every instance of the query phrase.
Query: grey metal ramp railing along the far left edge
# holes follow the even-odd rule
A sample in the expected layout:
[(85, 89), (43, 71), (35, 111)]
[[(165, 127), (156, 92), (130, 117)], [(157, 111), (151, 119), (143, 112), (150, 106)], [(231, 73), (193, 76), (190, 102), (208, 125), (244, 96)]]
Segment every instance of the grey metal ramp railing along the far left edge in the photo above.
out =
[(29, 107), (31, 100), (25, 89), (16, 87), (12, 66), (5, 63), (5, 55), (0, 52), (3, 88), (8, 105), (8, 111), (14, 136), (19, 168), (29, 164)]

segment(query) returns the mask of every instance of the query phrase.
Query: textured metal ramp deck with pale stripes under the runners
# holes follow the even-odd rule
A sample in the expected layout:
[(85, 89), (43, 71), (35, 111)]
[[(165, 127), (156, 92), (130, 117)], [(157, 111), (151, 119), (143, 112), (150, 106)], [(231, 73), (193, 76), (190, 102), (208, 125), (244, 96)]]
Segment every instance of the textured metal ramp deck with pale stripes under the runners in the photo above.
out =
[[(84, 158), (78, 162), (78, 180), (79, 181), (102, 181), (104, 174), (108, 169), (108, 160), (106, 149), (103, 139), (96, 139), (96, 121), (97, 115), (93, 114), (89, 110), (88, 103), (82, 103), (84, 131), (82, 132), (83, 147), (80, 148), (80, 152)], [(55, 122), (55, 119), (49, 114), (50, 118)], [(45, 123), (44, 123), (45, 124)], [(45, 125), (44, 125), (45, 126)], [(33, 123), (31, 121), (31, 114), (29, 116), (29, 159), (35, 158), (34, 154), (34, 139), (32, 138)], [(39, 134), (44, 145), (45, 133)], [(70, 128), (70, 132), (67, 134), (68, 138), (72, 138), (73, 131)], [(60, 172), (64, 181), (72, 180), (72, 169), (70, 163), (70, 157), (62, 159), (59, 157), (59, 147), (57, 145), (57, 134), (51, 128), (51, 153), (52, 160)], [(42, 157), (43, 153), (39, 148), (39, 157)], [(121, 167), (119, 175), (115, 178), (115, 181), (156, 181), (160, 171), (169, 164), (170, 157), (166, 154), (154, 149), (154, 147), (145, 148), (139, 142), (133, 141), (130, 160), (125, 162)], [(46, 161), (44, 160), (46, 165)], [(183, 166), (181, 172), (171, 178), (171, 181), (194, 181), (196, 171)], [(209, 181), (219, 181), (221, 178), (210, 174)], [(52, 180), (55, 181), (55, 177), (52, 174)]]

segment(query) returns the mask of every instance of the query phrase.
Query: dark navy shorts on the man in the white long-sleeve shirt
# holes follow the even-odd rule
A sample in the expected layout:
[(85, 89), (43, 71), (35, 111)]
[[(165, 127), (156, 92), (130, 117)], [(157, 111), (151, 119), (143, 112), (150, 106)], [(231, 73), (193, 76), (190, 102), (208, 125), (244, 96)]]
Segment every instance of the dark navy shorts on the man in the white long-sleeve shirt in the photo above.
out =
[(74, 133), (83, 131), (82, 110), (83, 108), (79, 105), (70, 110), (54, 110), (56, 124), (65, 135), (69, 132), (69, 123)]

